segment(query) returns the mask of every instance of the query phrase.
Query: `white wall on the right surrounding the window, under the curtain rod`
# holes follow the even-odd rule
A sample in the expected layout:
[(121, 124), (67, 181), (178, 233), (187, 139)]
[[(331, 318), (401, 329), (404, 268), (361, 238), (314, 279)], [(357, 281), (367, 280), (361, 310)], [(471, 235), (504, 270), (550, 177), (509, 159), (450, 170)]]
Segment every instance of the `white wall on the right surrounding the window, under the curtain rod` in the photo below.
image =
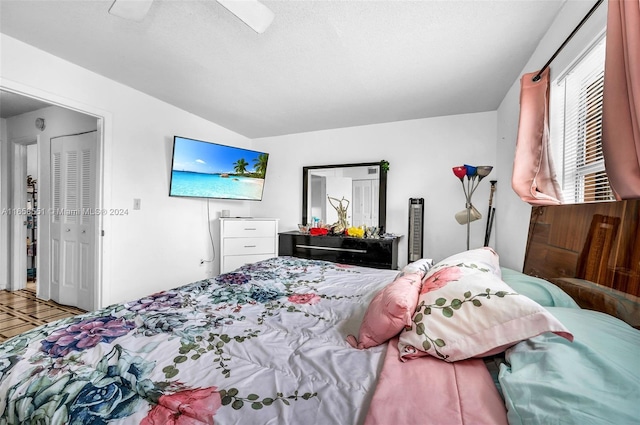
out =
[[(567, 1), (555, 21), (540, 41), (534, 54), (521, 74), (539, 70), (564, 42), (575, 26), (584, 18), (595, 2)], [(574, 58), (606, 26), (607, 2), (603, 2), (585, 25), (576, 33), (550, 66), (553, 81)], [(520, 80), (505, 96), (497, 111), (498, 141), (496, 190), (496, 250), (500, 254), (500, 264), (515, 270), (522, 270), (527, 243), (531, 207), (518, 198), (511, 189), (513, 158), (515, 156), (520, 113)]]

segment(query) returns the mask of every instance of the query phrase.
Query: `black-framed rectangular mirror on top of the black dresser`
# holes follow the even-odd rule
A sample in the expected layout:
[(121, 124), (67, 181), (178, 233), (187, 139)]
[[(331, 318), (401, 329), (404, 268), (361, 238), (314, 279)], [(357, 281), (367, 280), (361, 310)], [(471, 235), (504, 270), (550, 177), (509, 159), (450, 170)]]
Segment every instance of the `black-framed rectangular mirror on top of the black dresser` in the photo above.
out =
[(350, 226), (375, 226), (384, 233), (387, 173), (380, 162), (302, 168), (302, 224), (335, 223), (338, 213), (331, 203), (338, 205), (342, 199)]

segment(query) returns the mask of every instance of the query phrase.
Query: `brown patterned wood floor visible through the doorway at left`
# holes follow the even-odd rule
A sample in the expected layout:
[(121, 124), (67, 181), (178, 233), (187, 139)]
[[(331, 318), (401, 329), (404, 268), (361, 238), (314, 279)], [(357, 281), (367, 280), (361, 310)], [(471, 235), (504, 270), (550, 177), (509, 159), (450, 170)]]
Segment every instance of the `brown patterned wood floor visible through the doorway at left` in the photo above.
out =
[(27, 284), (27, 289), (20, 291), (2, 290), (0, 291), (0, 342), (36, 326), (80, 313), (84, 313), (84, 310), (37, 299), (33, 282)]

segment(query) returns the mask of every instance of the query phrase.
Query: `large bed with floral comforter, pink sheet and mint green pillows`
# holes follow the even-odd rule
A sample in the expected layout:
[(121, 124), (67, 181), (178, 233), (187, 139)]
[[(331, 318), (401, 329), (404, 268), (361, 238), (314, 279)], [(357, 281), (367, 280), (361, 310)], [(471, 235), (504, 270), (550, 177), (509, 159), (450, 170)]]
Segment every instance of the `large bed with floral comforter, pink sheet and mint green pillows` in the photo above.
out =
[[(425, 322), (514, 300), (471, 351)], [(491, 249), (401, 271), (277, 257), (0, 344), (0, 424), (630, 424), (639, 347)]]

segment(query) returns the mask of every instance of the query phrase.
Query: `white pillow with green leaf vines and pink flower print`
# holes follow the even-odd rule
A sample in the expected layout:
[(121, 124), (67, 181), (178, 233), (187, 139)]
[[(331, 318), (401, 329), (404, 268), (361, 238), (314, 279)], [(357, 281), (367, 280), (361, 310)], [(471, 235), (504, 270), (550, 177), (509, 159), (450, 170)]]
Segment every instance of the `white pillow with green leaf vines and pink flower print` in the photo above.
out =
[(423, 280), (411, 327), (400, 334), (401, 360), (483, 357), (544, 332), (572, 341), (562, 323), (500, 279), (497, 264), (487, 248), (436, 264)]

